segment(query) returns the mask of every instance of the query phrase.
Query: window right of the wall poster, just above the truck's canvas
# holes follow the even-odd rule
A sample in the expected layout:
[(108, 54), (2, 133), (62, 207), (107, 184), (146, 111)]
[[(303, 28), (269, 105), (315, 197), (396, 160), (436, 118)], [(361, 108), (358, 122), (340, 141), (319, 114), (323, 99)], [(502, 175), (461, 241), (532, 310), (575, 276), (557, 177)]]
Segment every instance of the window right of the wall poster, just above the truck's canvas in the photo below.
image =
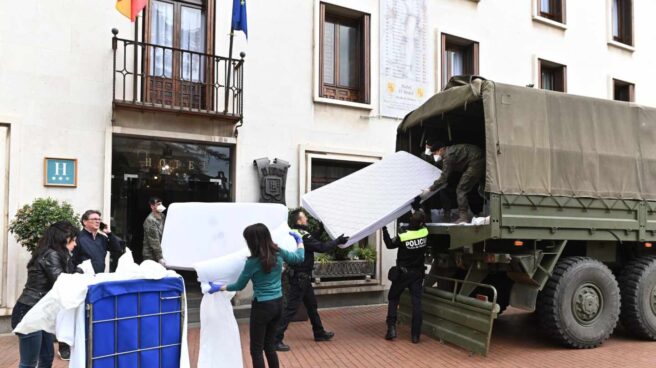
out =
[(478, 74), (478, 42), (442, 33), (442, 88), (456, 75)]

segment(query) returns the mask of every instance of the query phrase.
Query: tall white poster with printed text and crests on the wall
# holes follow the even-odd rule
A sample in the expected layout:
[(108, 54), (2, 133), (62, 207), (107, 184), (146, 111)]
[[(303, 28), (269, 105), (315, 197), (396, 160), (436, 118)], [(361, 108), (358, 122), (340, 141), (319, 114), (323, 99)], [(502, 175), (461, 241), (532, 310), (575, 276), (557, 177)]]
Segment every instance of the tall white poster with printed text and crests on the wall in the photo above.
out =
[(403, 118), (429, 97), (426, 0), (381, 0), (380, 9), (380, 114)]

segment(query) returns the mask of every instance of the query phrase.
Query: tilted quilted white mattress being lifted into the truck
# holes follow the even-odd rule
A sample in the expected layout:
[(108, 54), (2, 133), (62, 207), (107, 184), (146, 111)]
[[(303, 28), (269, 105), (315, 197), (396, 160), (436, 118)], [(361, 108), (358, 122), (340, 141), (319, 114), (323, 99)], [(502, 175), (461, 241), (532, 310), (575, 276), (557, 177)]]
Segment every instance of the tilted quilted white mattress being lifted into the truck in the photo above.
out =
[(350, 236), (348, 247), (410, 210), (440, 170), (399, 151), (362, 170), (305, 194), (303, 207), (323, 221), (328, 234)]

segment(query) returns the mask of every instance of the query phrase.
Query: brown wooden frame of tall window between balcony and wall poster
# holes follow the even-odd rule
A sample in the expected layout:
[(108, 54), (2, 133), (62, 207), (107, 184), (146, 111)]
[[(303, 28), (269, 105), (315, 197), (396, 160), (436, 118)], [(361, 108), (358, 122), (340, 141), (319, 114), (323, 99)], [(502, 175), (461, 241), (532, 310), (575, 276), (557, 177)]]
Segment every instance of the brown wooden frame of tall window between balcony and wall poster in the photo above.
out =
[[(324, 83), (323, 68), (324, 68), (324, 25), (326, 20), (338, 20), (344, 23), (351, 23), (357, 25), (358, 28), (358, 41), (360, 44), (360, 52), (358, 58), (360, 65), (358, 69), (358, 88), (348, 88), (339, 85), (339, 44), (335, 44), (335, 84)], [(339, 41), (338, 32), (336, 32), (336, 40)], [(371, 102), (371, 16), (367, 13), (360, 11), (343, 8), (340, 6), (320, 3), (319, 7), (319, 97), (329, 98), (335, 100), (342, 100), (355, 103), (369, 104)], [(327, 93), (328, 90), (334, 90), (335, 93), (331, 96)], [(342, 98), (337, 98), (337, 95)]]

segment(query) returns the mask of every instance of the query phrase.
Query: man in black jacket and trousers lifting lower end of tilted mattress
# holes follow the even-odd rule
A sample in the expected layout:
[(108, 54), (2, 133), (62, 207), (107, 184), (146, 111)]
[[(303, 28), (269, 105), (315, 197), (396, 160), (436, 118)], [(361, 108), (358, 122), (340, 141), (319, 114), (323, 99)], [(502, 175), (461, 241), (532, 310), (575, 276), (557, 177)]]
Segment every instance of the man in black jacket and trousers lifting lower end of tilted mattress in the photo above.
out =
[(307, 309), (310, 323), (312, 323), (312, 332), (314, 333), (315, 341), (328, 341), (335, 336), (333, 332), (324, 330), (321, 324), (321, 318), (317, 311), (317, 298), (314, 295), (314, 288), (312, 287), (312, 268), (314, 267), (314, 252), (325, 253), (339, 244), (345, 244), (348, 241), (348, 236), (344, 234), (338, 236), (335, 240), (322, 243), (317, 238), (308, 232), (307, 216), (305, 213), (298, 209), (290, 214), (290, 222), (292, 229), (297, 231), (303, 237), (303, 244), (305, 244), (305, 260), (301, 264), (288, 265), (289, 267), (289, 295), (287, 296), (287, 307), (282, 314), (280, 326), (276, 333), (276, 350), (289, 351), (289, 346), (283, 343), (285, 331), (292, 317), (298, 311), (301, 302)]

